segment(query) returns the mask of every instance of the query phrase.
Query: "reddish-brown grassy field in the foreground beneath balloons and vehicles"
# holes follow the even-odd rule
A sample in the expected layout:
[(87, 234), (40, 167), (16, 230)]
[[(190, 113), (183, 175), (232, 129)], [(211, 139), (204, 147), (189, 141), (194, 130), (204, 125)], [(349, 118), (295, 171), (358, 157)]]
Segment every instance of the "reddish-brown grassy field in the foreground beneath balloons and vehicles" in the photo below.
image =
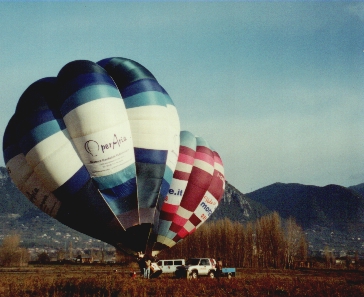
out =
[(130, 277), (132, 267), (29, 266), (0, 269), (0, 296), (364, 296), (364, 273), (239, 269), (233, 279)]

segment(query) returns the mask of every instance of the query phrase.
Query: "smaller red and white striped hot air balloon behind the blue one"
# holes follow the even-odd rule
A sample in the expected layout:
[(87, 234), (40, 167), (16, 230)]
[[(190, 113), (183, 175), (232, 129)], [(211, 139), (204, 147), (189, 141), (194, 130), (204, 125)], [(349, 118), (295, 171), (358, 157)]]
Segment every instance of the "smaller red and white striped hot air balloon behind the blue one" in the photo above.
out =
[(225, 190), (221, 158), (202, 137), (181, 132), (180, 154), (162, 207), (156, 251), (173, 247), (216, 210)]

